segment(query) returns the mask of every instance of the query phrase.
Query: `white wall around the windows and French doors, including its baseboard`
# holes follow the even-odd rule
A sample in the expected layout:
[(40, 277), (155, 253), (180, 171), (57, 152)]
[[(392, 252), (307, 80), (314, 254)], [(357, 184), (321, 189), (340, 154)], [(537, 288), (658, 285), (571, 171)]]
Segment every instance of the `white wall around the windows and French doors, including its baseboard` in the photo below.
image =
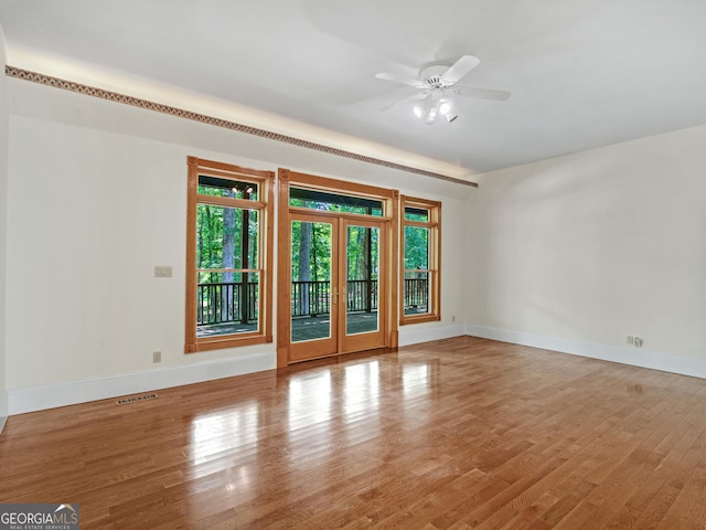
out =
[[(442, 200), (445, 226), (462, 222), (472, 192), (20, 80), (8, 85), (12, 414), (275, 367), (275, 344), (183, 353), (189, 155)], [(443, 237), (445, 319), (400, 329), (403, 343), (463, 331), (451, 325), (464, 312), (453, 252), (462, 233)], [(173, 266), (173, 277), (154, 278), (154, 265)]]

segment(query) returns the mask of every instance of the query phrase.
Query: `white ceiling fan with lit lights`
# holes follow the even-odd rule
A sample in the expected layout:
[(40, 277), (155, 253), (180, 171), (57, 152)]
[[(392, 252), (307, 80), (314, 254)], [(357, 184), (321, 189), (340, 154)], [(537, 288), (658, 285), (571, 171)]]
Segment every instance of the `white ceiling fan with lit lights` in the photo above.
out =
[(418, 80), (410, 80), (387, 72), (376, 74), (375, 77), (378, 80), (402, 83), (420, 91), (392, 105), (387, 105), (381, 110), (389, 110), (400, 105), (414, 103), (415, 115), (422, 119), (425, 124), (431, 125), (439, 115), (443, 116), (449, 123), (458, 118), (458, 115), (453, 113), (453, 96), (495, 99), (499, 102), (507, 99), (510, 93), (505, 91), (457, 85), (480, 62), (481, 60), (473, 55), (463, 55), (452, 65), (443, 62), (427, 63), (419, 68)]

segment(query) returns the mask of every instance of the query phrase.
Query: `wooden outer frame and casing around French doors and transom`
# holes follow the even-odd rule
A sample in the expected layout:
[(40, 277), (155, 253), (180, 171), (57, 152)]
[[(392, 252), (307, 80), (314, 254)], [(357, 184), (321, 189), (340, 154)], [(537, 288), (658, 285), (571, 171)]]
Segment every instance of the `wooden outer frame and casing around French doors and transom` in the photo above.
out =
[[(383, 201), (383, 213), (381, 218), (368, 215), (345, 214), (341, 212), (318, 212), (318, 215), (347, 218), (352, 220), (368, 220), (382, 222), (381, 231), (385, 231), (385, 252), (388, 256), (384, 265), (386, 277), (386, 289), (381, 289), (379, 298), (384, 297), (386, 315), (381, 318), (381, 326), (384, 333), (384, 347), (397, 348), (398, 346), (398, 263), (399, 263), (399, 191), (385, 188), (377, 188), (356, 182), (315, 177), (307, 173), (299, 173), (289, 169), (278, 170), (278, 220), (277, 220), (277, 368), (289, 365), (291, 346), (291, 212), (307, 212), (306, 209), (290, 209), (289, 189), (290, 186), (301, 186), (303, 188), (318, 189), (346, 195), (357, 195)], [(312, 213), (311, 210), (308, 213)], [(334, 354), (340, 354), (336, 352)]]

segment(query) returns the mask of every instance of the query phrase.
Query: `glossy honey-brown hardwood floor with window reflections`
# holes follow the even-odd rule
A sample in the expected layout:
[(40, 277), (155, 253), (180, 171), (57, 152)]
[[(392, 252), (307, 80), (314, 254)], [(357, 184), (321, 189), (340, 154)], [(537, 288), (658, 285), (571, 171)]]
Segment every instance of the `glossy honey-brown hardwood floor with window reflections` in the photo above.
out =
[(87, 529), (703, 529), (706, 381), (471, 337), (11, 416)]

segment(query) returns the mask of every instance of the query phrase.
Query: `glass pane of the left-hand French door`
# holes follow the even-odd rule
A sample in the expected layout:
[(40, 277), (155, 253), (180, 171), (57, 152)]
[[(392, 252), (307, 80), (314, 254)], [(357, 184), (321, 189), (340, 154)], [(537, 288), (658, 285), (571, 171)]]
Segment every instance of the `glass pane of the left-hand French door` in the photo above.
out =
[(331, 338), (333, 225), (291, 222), (291, 342)]

